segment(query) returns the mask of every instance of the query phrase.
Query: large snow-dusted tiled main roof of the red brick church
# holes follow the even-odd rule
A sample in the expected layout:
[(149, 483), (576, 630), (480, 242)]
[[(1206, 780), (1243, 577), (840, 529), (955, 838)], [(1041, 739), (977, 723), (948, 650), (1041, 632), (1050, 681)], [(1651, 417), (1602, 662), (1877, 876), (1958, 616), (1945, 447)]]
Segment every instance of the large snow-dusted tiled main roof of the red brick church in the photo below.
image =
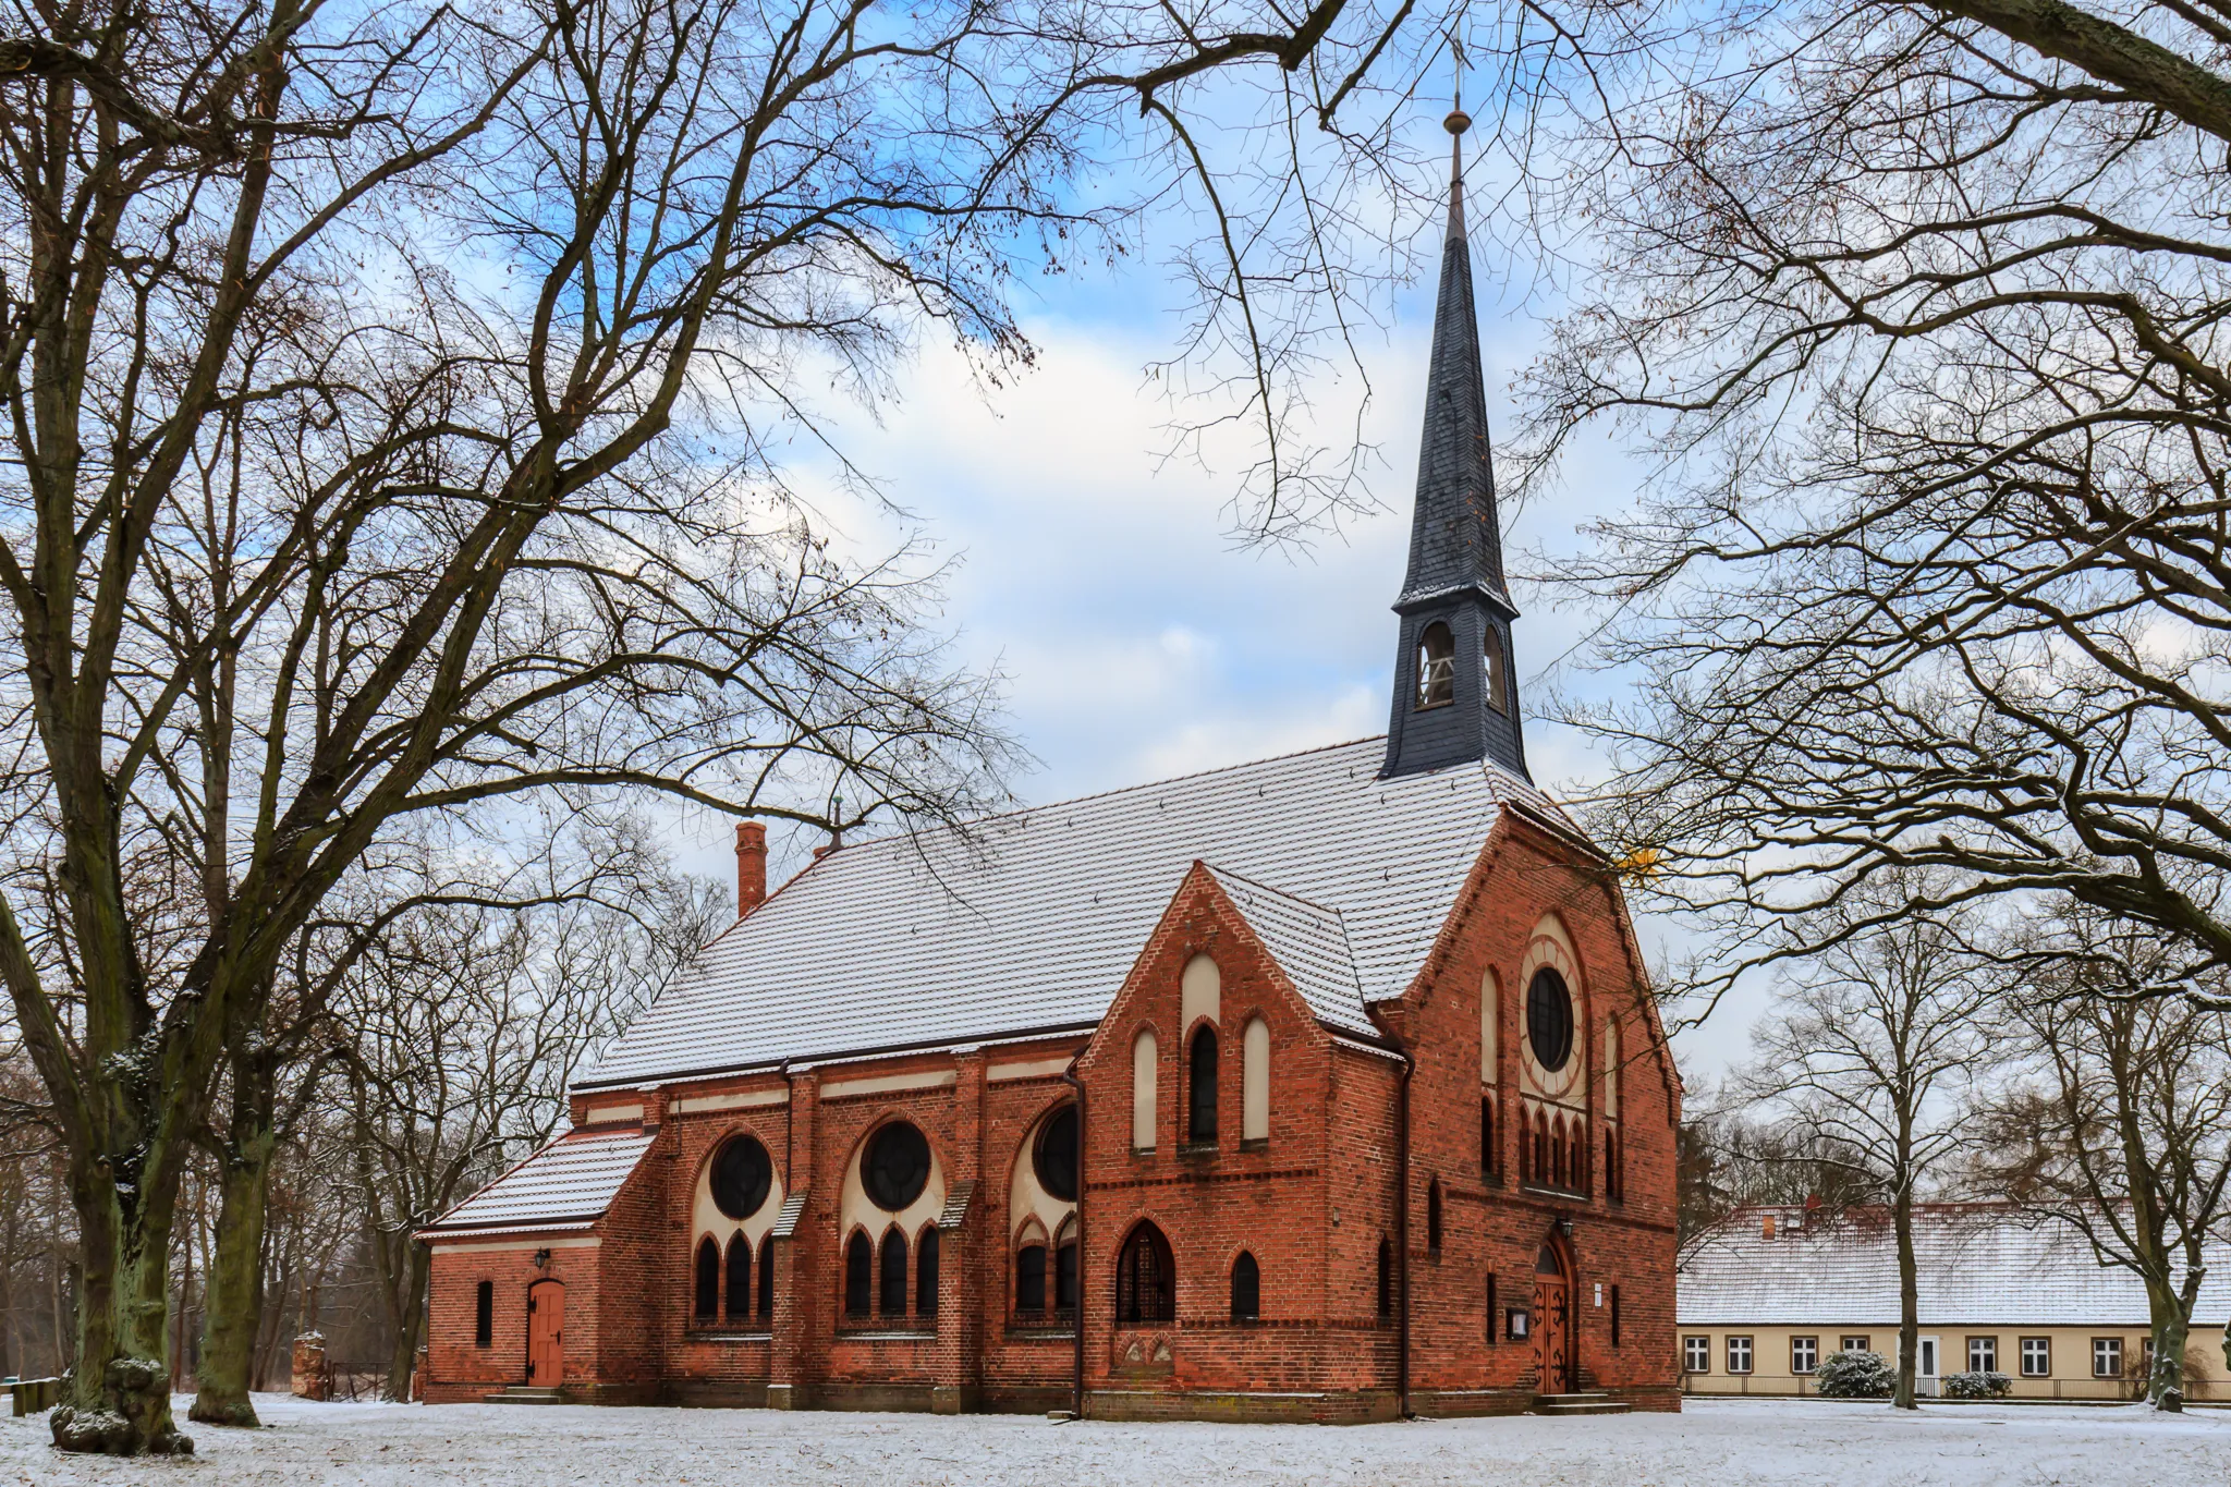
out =
[(1365, 738), (846, 845), (698, 952), (578, 1083), (1091, 1028), (1196, 861), (1247, 878), (1243, 912), (1303, 994), (1368, 1030), (1361, 1003), (1417, 974), (1504, 805), (1571, 829), (1499, 765), (1381, 780), (1383, 751)]

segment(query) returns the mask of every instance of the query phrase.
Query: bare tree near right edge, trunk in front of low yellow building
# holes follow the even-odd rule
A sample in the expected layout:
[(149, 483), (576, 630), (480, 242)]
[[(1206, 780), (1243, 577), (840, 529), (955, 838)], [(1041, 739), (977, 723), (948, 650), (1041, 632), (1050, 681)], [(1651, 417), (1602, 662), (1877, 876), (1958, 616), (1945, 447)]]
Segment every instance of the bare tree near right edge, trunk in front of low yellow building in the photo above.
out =
[[(2021, 1061), (1977, 1170), (2137, 1275), (2153, 1335), (2146, 1398), (2182, 1409), (2206, 1246), (2231, 1213), (2231, 1017), (2144, 994), (2175, 954), (2157, 934), (2097, 919), (2041, 934), (2010, 999), (2008, 1052)], [(2064, 959), (2039, 959), (2053, 947)], [(2231, 1364), (2231, 1331), (2224, 1349)]]

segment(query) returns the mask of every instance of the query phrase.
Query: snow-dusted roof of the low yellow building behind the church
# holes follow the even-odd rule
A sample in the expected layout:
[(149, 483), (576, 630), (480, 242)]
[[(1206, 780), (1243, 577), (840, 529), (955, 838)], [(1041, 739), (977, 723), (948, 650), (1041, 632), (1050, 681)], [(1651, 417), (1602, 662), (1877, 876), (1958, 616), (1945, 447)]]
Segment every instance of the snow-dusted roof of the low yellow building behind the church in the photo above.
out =
[[(1765, 1215), (1774, 1213), (1774, 1237)], [(2211, 1244), (2200, 1315), (2231, 1306), (2231, 1246)], [(1923, 1204), (1914, 1213), (1921, 1322), (1977, 1326), (2144, 1326), (2137, 1275), (2104, 1266), (2070, 1224), (2008, 1204)], [(1816, 1217), (1747, 1208), (1700, 1240), (1675, 1277), (1682, 1326), (1896, 1324), (1899, 1244), (1885, 1208)]]

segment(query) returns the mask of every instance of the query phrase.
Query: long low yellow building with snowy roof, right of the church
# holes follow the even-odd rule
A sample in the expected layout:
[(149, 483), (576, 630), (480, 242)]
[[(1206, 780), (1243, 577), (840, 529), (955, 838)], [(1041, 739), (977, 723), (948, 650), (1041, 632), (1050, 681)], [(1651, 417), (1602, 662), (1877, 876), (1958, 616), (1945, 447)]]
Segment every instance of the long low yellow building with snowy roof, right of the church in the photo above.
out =
[[(2012, 1398), (2128, 1400), (2151, 1360), (2146, 1291), (2059, 1219), (2006, 1204), (1923, 1204), (1919, 1387), (2006, 1373)], [(2231, 1246), (2211, 1246), (2184, 1355), (2186, 1398), (2231, 1402), (2222, 1329)], [(1887, 1208), (1745, 1208), (1689, 1246), (1675, 1291), (1687, 1393), (1814, 1393), (1834, 1351), (1899, 1353), (1899, 1246)]]

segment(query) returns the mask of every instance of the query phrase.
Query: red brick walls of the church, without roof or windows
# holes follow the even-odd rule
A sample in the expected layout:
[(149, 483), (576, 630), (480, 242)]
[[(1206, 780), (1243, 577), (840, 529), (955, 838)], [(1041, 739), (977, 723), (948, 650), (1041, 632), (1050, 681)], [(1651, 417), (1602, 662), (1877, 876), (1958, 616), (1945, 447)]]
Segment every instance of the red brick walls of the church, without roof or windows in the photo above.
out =
[[(1586, 1197), (1533, 1193), (1517, 1177), (1515, 1110), (1519, 988), (1533, 927), (1557, 914), (1580, 963), (1573, 985), (1588, 1059)], [(1187, 1030), (1178, 1028), (1185, 963), (1220, 968), (1218, 1130), (1211, 1153), (1180, 1153)], [(1499, 1144), (1479, 1150), (1479, 988), (1501, 976)], [(1644, 994), (1617, 892), (1555, 836), (1506, 814), (1410, 992), (1381, 1008), (1414, 1052), (1410, 1086), (1412, 1402), (1423, 1413), (1519, 1409), (1537, 1391), (1535, 1351), (1499, 1335), (1499, 1313), (1530, 1306), (1535, 1255), (1571, 1224), (1573, 1331), (1584, 1387), (1638, 1405), (1678, 1407), (1673, 1338), (1673, 1124), (1678, 1081)], [(1272, 1032), (1272, 1128), (1240, 1150), (1243, 1028)], [(1622, 1028), (1620, 1130), (1626, 1195), (1604, 1195), (1602, 1088), (1595, 1030)], [(1158, 1133), (1131, 1153), (1131, 1037), (1158, 1032)], [(1377, 1311), (1379, 1242), (1399, 1228), (1397, 1133), (1401, 1063), (1343, 1043), (1314, 1021), (1245, 916), (1205, 869), (1178, 887), (1102, 1028), (1084, 1046), (1053, 1039), (968, 1052), (703, 1081), (647, 1097), (658, 1141), (596, 1226), (598, 1248), (553, 1251), (567, 1282), (569, 1384), (605, 1398), (674, 1402), (1044, 1409), (1066, 1405), (1073, 1340), (1060, 1326), (1011, 1318), (1015, 1159), (1035, 1121), (1066, 1101), (1057, 1075), (993, 1081), (999, 1063), (1046, 1061), (1084, 1048), (1084, 1358), (1093, 1413), (1158, 1418), (1383, 1418), (1394, 1409), (1397, 1329)], [(825, 1097), (828, 1083), (950, 1072), (944, 1088)], [(790, 1088), (788, 1106), (674, 1112), (676, 1097)], [(964, 1222), (941, 1235), (941, 1304), (908, 1318), (843, 1318), (843, 1177), (881, 1121), (915, 1121), (937, 1150), (948, 1193), (973, 1184)], [(732, 1133), (774, 1157), (785, 1193), (805, 1184), (792, 1240), (776, 1242), (776, 1311), (761, 1333), (692, 1329), (692, 1202), (696, 1175)], [(1443, 1193), (1443, 1244), (1426, 1235), (1430, 1184)], [(1138, 1219), (1171, 1244), (1178, 1318), (1118, 1329), (1113, 1266)], [(433, 1266), (428, 1398), (480, 1398), (524, 1378), (524, 1286), (533, 1240), (504, 1251), (442, 1251)], [(1240, 1251), (1263, 1271), (1263, 1320), (1232, 1322), (1229, 1271)], [(1497, 1318), (1486, 1280), (1495, 1275)], [(473, 1284), (491, 1277), (495, 1342), (473, 1344)], [(756, 1277), (754, 1277), (756, 1284)], [(1049, 1277), (1051, 1284), (1051, 1277)], [(1595, 1289), (1604, 1286), (1604, 1304)], [(1620, 1338), (1611, 1340), (1611, 1286)], [(912, 1286), (910, 1286), (912, 1291)], [(1131, 1344), (1145, 1344), (1131, 1358)], [(1167, 1347), (1167, 1358), (1158, 1358)], [(1278, 1400), (1274, 1396), (1296, 1396)], [(1298, 1402), (1296, 1402), (1298, 1400)]]

